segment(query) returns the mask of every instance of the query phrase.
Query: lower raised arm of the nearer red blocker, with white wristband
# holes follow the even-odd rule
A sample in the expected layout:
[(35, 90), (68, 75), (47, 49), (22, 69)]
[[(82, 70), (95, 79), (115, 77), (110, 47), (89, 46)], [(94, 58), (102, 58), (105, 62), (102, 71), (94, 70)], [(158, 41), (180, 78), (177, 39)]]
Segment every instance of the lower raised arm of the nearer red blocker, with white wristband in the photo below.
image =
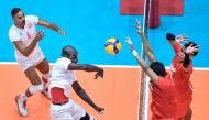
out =
[(150, 68), (150, 66), (146, 64), (146, 62), (139, 56), (138, 52), (134, 50), (133, 43), (131, 41), (131, 39), (128, 36), (127, 37), (127, 43), (130, 45), (130, 50), (133, 53), (135, 59), (138, 61), (138, 63), (140, 64), (140, 66), (142, 67), (142, 69), (147, 74), (147, 76), (151, 78), (151, 80), (155, 84), (158, 83), (158, 76)]

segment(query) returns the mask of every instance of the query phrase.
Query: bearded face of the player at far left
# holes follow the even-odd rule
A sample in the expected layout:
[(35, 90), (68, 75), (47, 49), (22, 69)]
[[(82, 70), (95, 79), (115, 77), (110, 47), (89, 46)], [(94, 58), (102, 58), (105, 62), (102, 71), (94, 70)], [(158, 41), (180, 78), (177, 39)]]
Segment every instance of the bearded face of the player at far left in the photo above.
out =
[(24, 29), (25, 25), (25, 17), (24, 13), (22, 11), (18, 12), (14, 17), (13, 17), (13, 21), (14, 24), (21, 29)]

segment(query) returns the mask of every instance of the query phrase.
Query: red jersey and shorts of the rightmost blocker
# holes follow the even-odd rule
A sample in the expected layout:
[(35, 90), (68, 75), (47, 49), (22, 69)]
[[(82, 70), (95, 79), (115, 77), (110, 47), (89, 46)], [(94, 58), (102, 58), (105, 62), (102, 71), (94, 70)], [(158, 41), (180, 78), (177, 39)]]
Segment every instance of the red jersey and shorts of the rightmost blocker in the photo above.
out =
[(178, 113), (179, 117), (184, 117), (193, 99), (193, 85), (189, 80), (193, 65), (190, 62), (188, 68), (185, 68), (183, 63), (178, 62), (178, 54), (182, 52), (182, 46), (178, 43), (174, 45), (174, 50), (176, 55), (172, 62), (172, 77), (176, 87)]

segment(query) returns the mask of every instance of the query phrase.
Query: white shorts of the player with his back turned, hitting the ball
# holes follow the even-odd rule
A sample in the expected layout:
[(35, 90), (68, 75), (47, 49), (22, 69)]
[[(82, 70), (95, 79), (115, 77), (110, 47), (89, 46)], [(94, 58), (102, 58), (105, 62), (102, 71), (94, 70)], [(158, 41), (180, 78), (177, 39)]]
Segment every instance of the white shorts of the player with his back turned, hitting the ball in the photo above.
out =
[(85, 109), (73, 100), (62, 106), (51, 103), (52, 120), (80, 120), (85, 116)]

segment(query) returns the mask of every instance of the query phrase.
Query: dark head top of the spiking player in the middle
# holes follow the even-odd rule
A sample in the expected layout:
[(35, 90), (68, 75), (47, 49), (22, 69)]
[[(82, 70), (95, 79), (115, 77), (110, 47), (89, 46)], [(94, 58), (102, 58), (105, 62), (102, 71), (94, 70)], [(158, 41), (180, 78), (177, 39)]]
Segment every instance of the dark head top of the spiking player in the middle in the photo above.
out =
[(68, 57), (69, 59), (72, 59), (75, 55), (77, 55), (77, 53), (78, 53), (77, 50), (70, 45), (64, 46), (62, 50), (62, 56)]

